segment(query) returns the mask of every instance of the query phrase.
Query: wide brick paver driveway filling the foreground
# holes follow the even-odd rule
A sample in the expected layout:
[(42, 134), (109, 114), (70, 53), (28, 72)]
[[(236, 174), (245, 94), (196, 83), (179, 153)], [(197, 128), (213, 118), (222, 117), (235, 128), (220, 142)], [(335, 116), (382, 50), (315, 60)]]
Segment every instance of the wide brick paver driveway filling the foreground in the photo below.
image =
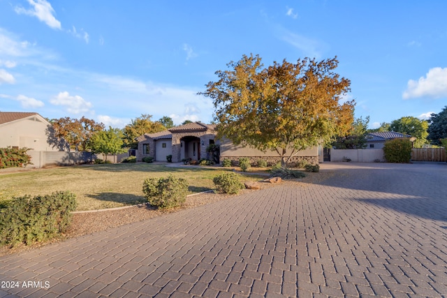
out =
[(447, 165), (322, 168), (0, 258), (0, 296), (447, 297)]

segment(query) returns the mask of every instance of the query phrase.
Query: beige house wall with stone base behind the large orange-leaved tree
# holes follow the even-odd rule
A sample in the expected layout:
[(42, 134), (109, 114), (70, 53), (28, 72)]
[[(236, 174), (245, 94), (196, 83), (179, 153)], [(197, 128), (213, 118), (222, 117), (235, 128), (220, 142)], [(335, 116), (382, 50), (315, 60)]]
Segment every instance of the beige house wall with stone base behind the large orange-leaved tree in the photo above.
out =
[[(292, 149), (288, 149), (287, 152), (291, 152)], [(263, 159), (267, 161), (269, 165), (274, 165), (281, 161), (281, 156), (277, 151), (261, 151), (258, 149), (252, 149), (250, 147), (235, 146), (230, 140), (221, 141), (221, 161), (224, 158), (230, 159), (233, 163), (237, 164), (237, 161), (241, 157), (247, 157), (252, 164), (255, 164), (258, 160)], [(319, 162), (318, 147), (312, 147), (306, 150), (302, 150), (293, 156), (289, 161), (289, 165), (295, 165), (300, 161), (307, 161), (308, 163), (316, 164)]]

